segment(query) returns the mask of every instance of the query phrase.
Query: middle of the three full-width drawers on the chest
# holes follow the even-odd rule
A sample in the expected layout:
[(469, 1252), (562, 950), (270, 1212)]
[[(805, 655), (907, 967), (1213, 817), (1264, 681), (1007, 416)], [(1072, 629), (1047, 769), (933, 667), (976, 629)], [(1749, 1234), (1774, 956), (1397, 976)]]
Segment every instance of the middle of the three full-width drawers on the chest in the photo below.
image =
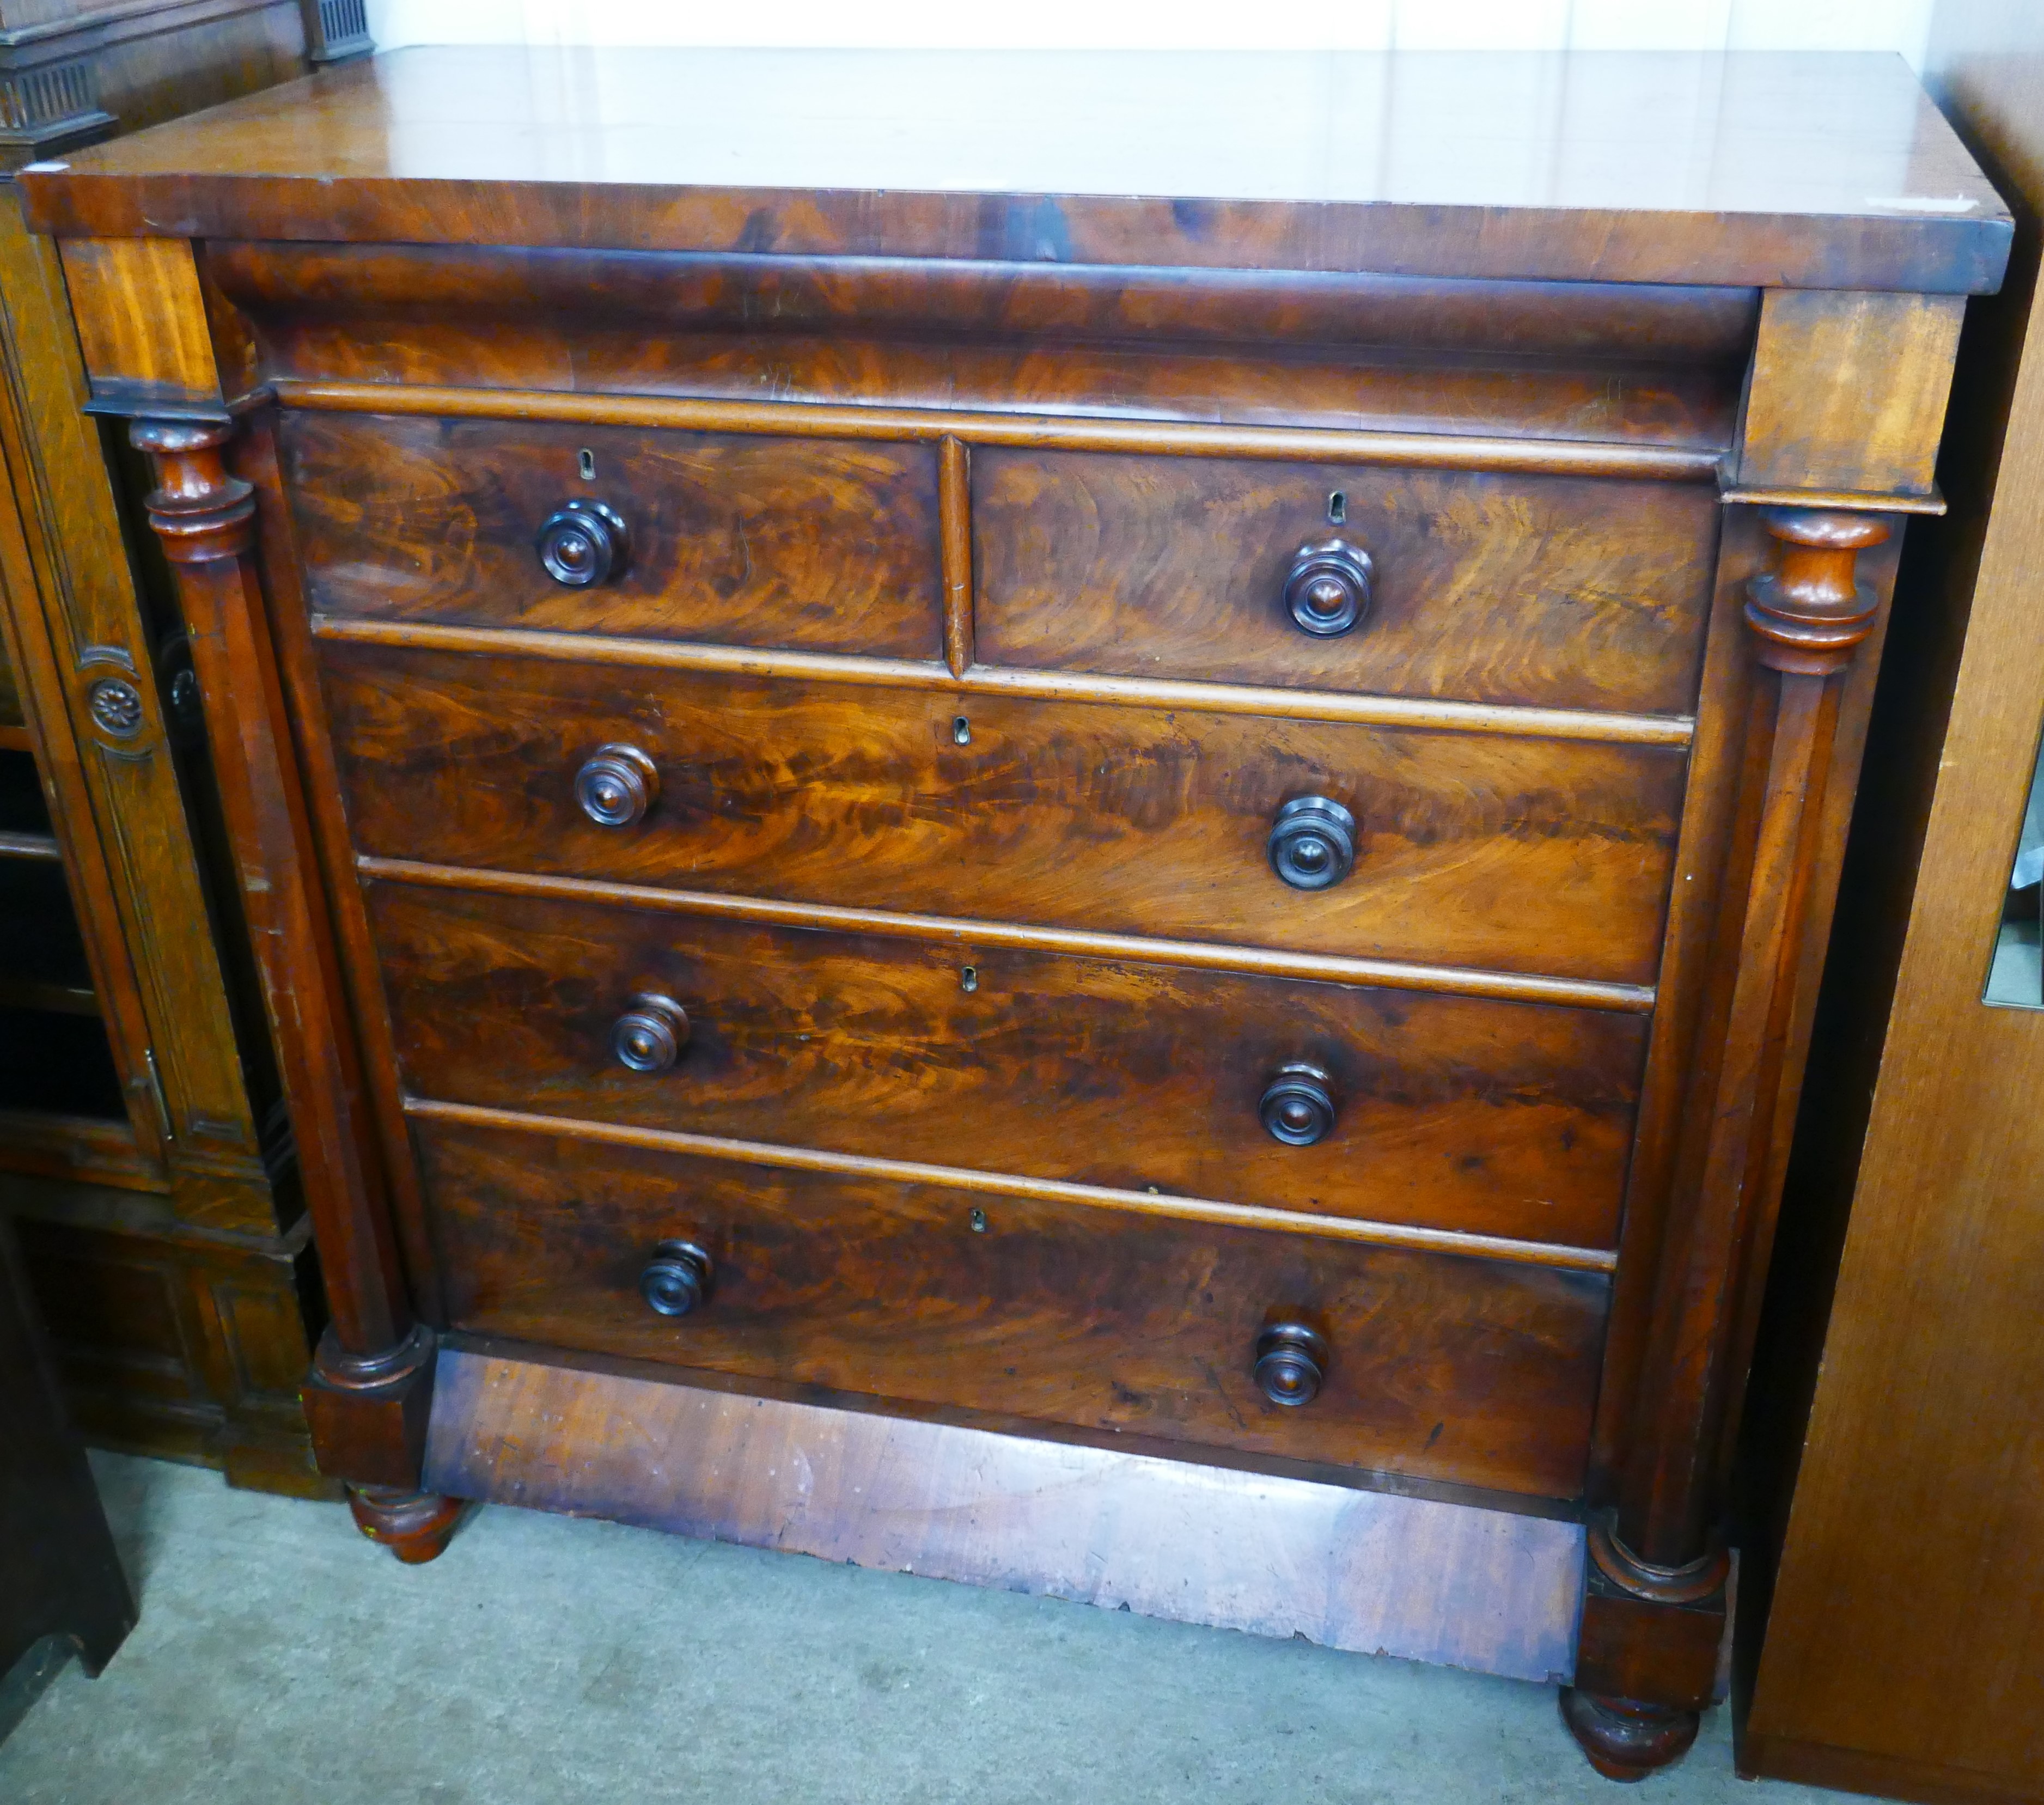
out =
[[(1617, 1245), (1643, 1016), (409, 883), (370, 910), (417, 1096)], [(685, 1024), (634, 1069), (646, 996)]]

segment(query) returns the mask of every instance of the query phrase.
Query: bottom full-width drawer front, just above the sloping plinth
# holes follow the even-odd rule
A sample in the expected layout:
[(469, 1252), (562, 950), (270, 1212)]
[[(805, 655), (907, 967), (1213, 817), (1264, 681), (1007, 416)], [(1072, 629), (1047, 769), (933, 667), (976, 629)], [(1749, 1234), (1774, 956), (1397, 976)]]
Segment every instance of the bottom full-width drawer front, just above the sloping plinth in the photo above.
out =
[[(454, 1327), (1547, 1498), (1582, 1488), (1609, 1282), (1073, 1202), (415, 1124)], [(701, 1308), (640, 1274), (683, 1239)], [(1269, 1402), (1271, 1323), (1327, 1345)]]

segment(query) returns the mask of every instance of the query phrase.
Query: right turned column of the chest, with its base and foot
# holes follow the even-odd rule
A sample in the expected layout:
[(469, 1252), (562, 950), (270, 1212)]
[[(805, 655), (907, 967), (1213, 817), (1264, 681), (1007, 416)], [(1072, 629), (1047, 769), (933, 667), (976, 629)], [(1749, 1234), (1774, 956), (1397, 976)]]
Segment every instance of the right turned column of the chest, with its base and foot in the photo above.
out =
[[(1729, 1556), (1717, 1539), (1717, 1449), (1744, 1372), (1735, 1333), (1770, 1171), (1797, 957), (1838, 730), (1840, 675), (1880, 601), (1858, 554), (1878, 515), (1764, 509), (1774, 568), (1746, 595), (1760, 681), (1723, 908), (1737, 910), (1721, 1032), (1699, 1049), (1654, 1327), (1615, 1511), (1590, 1523), (1576, 1684), (1562, 1715), (1598, 1772), (1637, 1780), (1680, 1756), (1717, 1680)], [(1731, 922), (1725, 924), (1727, 928)]]

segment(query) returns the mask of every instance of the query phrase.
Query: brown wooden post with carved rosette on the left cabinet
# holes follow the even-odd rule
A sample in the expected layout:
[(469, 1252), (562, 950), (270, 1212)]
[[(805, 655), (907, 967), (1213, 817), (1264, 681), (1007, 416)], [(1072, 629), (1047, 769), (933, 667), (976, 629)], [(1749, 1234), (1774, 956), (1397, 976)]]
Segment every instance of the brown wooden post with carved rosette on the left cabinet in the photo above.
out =
[[(258, 1135), (274, 1079), (260, 1024), (243, 1040), (229, 1002), (233, 953), (223, 946), (233, 930), (217, 940), (194, 830), (208, 779), (202, 760), (180, 771), (172, 748), (153, 679), (164, 632), (131, 568), (98, 423), (78, 413), (80, 354), (57, 247), (31, 235), (12, 204), (0, 206), (0, 358), (12, 376), (0, 431), (14, 482), (0, 521), (6, 607), (129, 1116), (151, 1147), (168, 1112), (161, 1157), (190, 1220), (262, 1233), (276, 1222)], [(108, 734), (94, 718), (102, 683), (135, 697), (133, 732)]]

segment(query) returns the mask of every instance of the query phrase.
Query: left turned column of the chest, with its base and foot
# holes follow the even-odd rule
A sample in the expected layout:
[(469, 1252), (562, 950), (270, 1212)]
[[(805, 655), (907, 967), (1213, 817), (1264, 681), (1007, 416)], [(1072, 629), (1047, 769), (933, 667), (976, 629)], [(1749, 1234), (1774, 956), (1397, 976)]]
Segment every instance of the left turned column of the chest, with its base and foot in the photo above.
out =
[(227, 421), (139, 419), (157, 487), (149, 525), (170, 560), (204, 699), (307, 1210), (331, 1321), (305, 1410), (323, 1472), (401, 1560), (429, 1560), (456, 1507), (419, 1490), (433, 1333), (413, 1321), (370, 1135), (354, 1024), (298, 787), (290, 720), (256, 566), (256, 493), (227, 468)]

